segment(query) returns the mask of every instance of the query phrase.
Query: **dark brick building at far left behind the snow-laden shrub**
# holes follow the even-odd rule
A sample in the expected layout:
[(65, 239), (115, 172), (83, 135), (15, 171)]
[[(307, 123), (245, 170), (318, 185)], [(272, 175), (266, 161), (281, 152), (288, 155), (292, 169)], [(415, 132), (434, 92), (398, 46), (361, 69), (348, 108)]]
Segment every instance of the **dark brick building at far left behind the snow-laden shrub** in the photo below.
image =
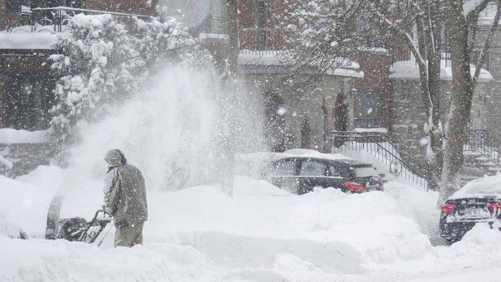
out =
[(0, 0), (0, 128), (48, 128), (56, 81), (47, 58), (64, 25), (57, 15), (86, 9), (147, 16), (156, 14), (156, 5), (156, 0)]

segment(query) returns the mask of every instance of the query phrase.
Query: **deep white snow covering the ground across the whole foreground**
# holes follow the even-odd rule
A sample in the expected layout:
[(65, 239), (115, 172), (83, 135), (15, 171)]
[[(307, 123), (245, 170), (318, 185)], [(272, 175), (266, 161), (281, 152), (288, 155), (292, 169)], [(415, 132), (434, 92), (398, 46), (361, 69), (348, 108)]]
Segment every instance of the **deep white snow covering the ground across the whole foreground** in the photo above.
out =
[[(101, 248), (45, 240), (47, 208), (66, 174), (39, 167), (0, 178), (0, 217), (35, 236), (0, 235), (7, 254), (0, 280), (494, 281), (501, 274), (501, 233), (479, 225), (451, 247), (434, 246), (437, 195), (404, 181), (386, 183), (384, 192), (296, 196), (237, 176), (233, 198), (216, 186), (150, 191), (142, 246), (111, 248), (113, 230)], [(67, 193), (62, 216), (90, 218), (101, 204), (97, 182)]]

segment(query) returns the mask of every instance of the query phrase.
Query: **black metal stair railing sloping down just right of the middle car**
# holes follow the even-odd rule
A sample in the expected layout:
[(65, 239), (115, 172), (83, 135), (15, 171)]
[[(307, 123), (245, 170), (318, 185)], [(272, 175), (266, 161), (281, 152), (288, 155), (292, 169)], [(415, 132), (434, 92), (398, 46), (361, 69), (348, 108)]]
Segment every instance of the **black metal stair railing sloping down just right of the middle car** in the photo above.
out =
[(365, 151), (389, 167), (392, 174), (401, 175), (424, 189), (428, 189), (427, 179), (431, 169), (395, 146), (383, 133), (334, 131), (331, 135), (331, 144), (333, 144), (333, 153), (348, 150)]

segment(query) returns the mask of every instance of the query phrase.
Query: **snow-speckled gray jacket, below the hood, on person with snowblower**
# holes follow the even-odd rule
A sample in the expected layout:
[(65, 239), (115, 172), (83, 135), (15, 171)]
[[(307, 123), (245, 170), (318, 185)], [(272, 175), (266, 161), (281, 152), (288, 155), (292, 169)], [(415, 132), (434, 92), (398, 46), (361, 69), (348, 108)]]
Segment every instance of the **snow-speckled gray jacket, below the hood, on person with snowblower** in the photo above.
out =
[(104, 203), (115, 224), (146, 221), (148, 204), (141, 171), (130, 164), (110, 167), (105, 180)]

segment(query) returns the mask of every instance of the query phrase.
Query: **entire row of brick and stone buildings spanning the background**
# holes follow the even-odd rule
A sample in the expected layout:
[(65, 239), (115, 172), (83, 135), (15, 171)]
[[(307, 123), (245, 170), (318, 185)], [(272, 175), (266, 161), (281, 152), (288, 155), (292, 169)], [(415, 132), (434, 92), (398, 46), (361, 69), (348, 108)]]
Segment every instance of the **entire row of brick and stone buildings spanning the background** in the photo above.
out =
[[(28, 6), (13, 8), (9, 0), (0, 0), (0, 18), (8, 19), (14, 11), (17, 25), (33, 19), (30, 8), (69, 6), (74, 8), (104, 10), (130, 14), (154, 15), (156, 1), (136, 0), (87, 0), (48, 1), (33, 0)], [(11, 2), (9, 2), (11, 3)], [(23, 4), (24, 2), (16, 2)], [(273, 0), (240, 0), (240, 57), (239, 72), (247, 87), (261, 95), (265, 120), (265, 136), (271, 143), (281, 143), (280, 148), (309, 147), (329, 150), (325, 142), (334, 129), (335, 104), (338, 94), (347, 97), (349, 130), (376, 130), (387, 133), (414, 156), (424, 156), (425, 146), (420, 144), (425, 123), (417, 65), (404, 43), (393, 40), (384, 46), (368, 49), (356, 62), (341, 66), (325, 75), (323, 82), (310, 91), (298, 93), (283, 85), (281, 78), (289, 72), (287, 65), (278, 59), (278, 50), (286, 43), (283, 32), (276, 28), (278, 17), (286, 13), (287, 4)], [(9, 10), (7, 7), (9, 6)], [(190, 24), (190, 32), (200, 36), (212, 51), (221, 67), (224, 65), (225, 45), (228, 43), (224, 30), (224, 5), (221, 0), (169, 1), (166, 13), (182, 10), (182, 17)], [(34, 11), (33, 11), (34, 12)], [(31, 17), (31, 18), (30, 18)], [(35, 17), (36, 18), (36, 17)], [(8, 23), (0, 23), (5, 29)], [(481, 46), (488, 26), (481, 26), (477, 35)], [(2, 34), (2, 32), (0, 32)], [(16, 43), (16, 33), (12, 33)], [(33, 42), (19, 41), (7, 48), (0, 40), (0, 127), (43, 129), (48, 125), (47, 110), (51, 106), (53, 88), (45, 58), (51, 53), (50, 44), (44, 45), (50, 35), (34, 33)], [(2, 35), (0, 35), (2, 36)], [(497, 33), (490, 50), (488, 71), (482, 72), (477, 87), (472, 112), (471, 128), (488, 128), (498, 136), (501, 130), (498, 116), (501, 99), (497, 94), (501, 87), (501, 33)], [(5, 35), (3, 39), (5, 39)], [(382, 48), (385, 47), (385, 48)], [(449, 53), (450, 54), (450, 53)], [(447, 51), (443, 53), (447, 57)], [(451, 90), (450, 60), (442, 60), (441, 110), (448, 111)], [(489, 73), (490, 72), (490, 73)], [(296, 79), (301, 79), (298, 75)], [(13, 93), (7, 93), (11, 91)], [(28, 93), (28, 94), (27, 94)], [(275, 108), (273, 108), (275, 107)], [(277, 111), (279, 109), (284, 109)], [(484, 109), (480, 111), (479, 109)], [(274, 116), (277, 112), (281, 115)], [(267, 116), (271, 115), (271, 116)], [(446, 115), (444, 115), (446, 116)], [(271, 127), (271, 128), (267, 128)], [(275, 136), (277, 135), (277, 136)], [(278, 141), (277, 141), (278, 140)], [(271, 144), (271, 146), (275, 146)]]

